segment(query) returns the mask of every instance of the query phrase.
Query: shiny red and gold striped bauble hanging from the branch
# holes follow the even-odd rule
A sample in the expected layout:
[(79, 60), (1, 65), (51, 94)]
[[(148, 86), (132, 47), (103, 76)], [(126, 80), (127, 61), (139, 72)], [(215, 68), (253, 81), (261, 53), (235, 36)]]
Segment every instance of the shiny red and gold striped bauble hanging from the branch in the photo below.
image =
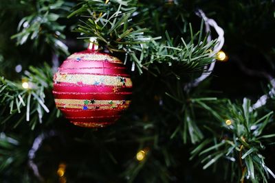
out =
[(74, 125), (104, 127), (130, 104), (132, 82), (126, 67), (98, 51), (72, 54), (54, 75), (56, 107)]

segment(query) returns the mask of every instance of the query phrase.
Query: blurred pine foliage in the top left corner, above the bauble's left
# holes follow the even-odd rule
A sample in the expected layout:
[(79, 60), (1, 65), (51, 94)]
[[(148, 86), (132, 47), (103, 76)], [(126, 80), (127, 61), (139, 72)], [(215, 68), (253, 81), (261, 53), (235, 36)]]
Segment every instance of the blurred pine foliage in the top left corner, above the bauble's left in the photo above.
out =
[(67, 46), (62, 42), (65, 40), (65, 25), (58, 23), (58, 19), (65, 18), (72, 3), (63, 0), (40, 0), (33, 3), (32, 1), (21, 1), (24, 7), (30, 11), (28, 16), (23, 17), (18, 25), (18, 34), (11, 38), (17, 38), (17, 44), (23, 45), (27, 40), (33, 40), (34, 46), (42, 42), (51, 45), (57, 53), (68, 55)]

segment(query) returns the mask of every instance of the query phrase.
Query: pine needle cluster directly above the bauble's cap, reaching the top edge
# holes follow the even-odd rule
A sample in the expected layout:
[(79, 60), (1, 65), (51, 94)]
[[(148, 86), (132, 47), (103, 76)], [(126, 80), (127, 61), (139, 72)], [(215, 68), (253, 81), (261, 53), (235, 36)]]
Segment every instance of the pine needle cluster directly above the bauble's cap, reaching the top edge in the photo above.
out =
[[(78, 25), (77, 32), (85, 36), (96, 37), (100, 45), (109, 51), (129, 51), (129, 45), (140, 45), (153, 40), (149, 36), (144, 36), (146, 28), (140, 28), (140, 23), (133, 23), (133, 16), (137, 12), (136, 1), (85, 1), (80, 3), (80, 8), (69, 15), (87, 14), (87, 21), (81, 21), (83, 25)], [(139, 47), (135, 47), (140, 49)], [(134, 52), (133, 52), (134, 53)]]

